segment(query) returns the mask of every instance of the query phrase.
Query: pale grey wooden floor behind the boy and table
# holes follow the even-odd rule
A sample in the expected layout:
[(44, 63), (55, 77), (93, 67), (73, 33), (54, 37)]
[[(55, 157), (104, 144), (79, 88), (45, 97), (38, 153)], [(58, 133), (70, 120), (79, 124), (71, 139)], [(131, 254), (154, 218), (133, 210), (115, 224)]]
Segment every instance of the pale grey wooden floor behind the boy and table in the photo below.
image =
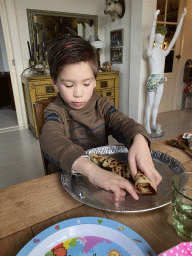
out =
[[(192, 130), (192, 108), (160, 113), (158, 123), (165, 135), (151, 139), (164, 140)], [(110, 144), (117, 142), (110, 138)], [(39, 141), (31, 130), (0, 131), (0, 189), (44, 175)]]

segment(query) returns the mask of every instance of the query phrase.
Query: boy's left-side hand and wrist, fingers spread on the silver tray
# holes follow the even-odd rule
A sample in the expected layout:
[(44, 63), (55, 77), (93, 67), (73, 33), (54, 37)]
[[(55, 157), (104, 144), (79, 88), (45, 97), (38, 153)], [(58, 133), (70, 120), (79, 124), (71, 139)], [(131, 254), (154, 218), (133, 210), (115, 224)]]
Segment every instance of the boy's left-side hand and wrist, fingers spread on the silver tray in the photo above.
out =
[(78, 158), (73, 165), (73, 169), (86, 176), (95, 186), (108, 191), (111, 190), (115, 194), (116, 201), (118, 201), (121, 196), (125, 196), (125, 190), (127, 190), (135, 200), (139, 199), (135, 187), (128, 180), (100, 168), (88, 158)]

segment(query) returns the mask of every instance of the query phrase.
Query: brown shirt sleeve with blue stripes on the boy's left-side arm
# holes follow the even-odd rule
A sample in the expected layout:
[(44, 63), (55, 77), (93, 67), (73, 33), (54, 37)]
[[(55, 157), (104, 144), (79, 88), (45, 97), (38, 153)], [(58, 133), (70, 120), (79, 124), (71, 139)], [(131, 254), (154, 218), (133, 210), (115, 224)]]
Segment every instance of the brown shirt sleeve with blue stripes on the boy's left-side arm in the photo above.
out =
[(44, 116), (45, 124), (39, 137), (41, 149), (57, 166), (71, 172), (73, 163), (86, 153), (81, 146), (66, 137), (65, 120), (62, 119), (59, 111), (48, 108), (44, 111)]

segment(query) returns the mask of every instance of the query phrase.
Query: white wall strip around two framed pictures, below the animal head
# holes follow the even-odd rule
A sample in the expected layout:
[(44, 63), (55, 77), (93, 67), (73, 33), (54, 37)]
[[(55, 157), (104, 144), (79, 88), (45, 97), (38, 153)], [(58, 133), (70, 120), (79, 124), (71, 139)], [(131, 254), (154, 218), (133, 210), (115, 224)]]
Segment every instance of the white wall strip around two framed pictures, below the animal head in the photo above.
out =
[(116, 29), (124, 29), (124, 45), (123, 45), (123, 63), (113, 64), (112, 70), (119, 71), (120, 88), (119, 88), (119, 110), (128, 114), (129, 102), (129, 80), (130, 80), (130, 42), (131, 42), (131, 0), (125, 0), (125, 15), (122, 19), (116, 18), (115, 22), (111, 21), (109, 14), (103, 17), (105, 22), (105, 59), (110, 61), (110, 31)]

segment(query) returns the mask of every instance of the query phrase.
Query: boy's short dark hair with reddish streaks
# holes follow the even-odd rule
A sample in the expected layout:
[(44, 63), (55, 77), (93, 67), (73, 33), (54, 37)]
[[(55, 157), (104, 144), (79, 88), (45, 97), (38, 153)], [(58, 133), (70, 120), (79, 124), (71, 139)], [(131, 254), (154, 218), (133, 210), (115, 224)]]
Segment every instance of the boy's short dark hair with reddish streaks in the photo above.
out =
[(89, 62), (95, 78), (98, 74), (97, 50), (80, 36), (64, 35), (53, 40), (47, 59), (50, 75), (55, 82), (64, 66), (79, 62)]

